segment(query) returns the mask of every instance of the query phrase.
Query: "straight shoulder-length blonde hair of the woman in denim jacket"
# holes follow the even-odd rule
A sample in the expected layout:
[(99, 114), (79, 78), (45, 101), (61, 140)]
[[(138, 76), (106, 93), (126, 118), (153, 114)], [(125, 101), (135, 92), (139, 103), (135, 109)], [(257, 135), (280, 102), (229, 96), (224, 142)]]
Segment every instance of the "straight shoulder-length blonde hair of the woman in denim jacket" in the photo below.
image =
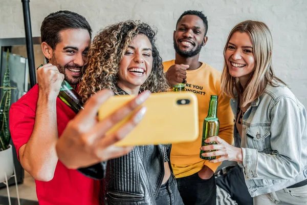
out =
[[(250, 74), (245, 89), (240, 85), (237, 77), (232, 77), (226, 63), (225, 52), (229, 39), (235, 32), (247, 33), (253, 45), (255, 67)], [(246, 20), (237, 24), (229, 33), (224, 47), (224, 68), (222, 72), (222, 92), (232, 98), (238, 98), (241, 108), (246, 107), (257, 99), (270, 84), (278, 87), (280, 84), (287, 86), (275, 76), (272, 68), (272, 35), (268, 26), (262, 22)], [(280, 83), (280, 84), (279, 84)], [(235, 95), (235, 91), (237, 95)]]

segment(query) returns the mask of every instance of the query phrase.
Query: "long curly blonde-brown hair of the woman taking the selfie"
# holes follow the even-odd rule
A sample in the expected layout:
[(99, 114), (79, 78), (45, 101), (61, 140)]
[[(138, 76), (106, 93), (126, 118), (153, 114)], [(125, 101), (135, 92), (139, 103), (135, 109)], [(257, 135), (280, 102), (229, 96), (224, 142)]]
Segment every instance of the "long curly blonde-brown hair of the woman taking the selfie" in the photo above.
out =
[(146, 35), (152, 46), (152, 70), (145, 83), (141, 85), (140, 91), (164, 92), (168, 89), (162, 58), (156, 46), (156, 31), (148, 24), (127, 20), (108, 26), (95, 36), (79, 85), (79, 94), (83, 102), (102, 89), (111, 89), (115, 94), (119, 94), (119, 64), (129, 44), (138, 34)]

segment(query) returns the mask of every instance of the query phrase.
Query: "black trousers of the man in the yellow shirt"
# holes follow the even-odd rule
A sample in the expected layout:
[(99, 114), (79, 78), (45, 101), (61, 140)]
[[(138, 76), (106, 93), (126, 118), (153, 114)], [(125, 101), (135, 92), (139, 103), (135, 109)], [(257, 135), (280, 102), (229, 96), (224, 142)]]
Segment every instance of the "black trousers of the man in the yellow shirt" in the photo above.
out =
[(177, 186), (185, 205), (215, 205), (216, 183), (214, 175), (210, 179), (202, 179), (198, 173), (177, 178)]

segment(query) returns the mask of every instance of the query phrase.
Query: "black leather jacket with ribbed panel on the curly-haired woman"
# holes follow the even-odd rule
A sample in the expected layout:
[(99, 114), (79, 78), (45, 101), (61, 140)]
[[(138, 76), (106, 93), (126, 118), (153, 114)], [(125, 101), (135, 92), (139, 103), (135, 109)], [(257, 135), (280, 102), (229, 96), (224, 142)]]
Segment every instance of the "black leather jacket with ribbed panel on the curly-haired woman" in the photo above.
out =
[(164, 145), (136, 146), (127, 155), (79, 171), (104, 178), (105, 204), (156, 204), (164, 177), (164, 154), (167, 151), (169, 157), (170, 150)]

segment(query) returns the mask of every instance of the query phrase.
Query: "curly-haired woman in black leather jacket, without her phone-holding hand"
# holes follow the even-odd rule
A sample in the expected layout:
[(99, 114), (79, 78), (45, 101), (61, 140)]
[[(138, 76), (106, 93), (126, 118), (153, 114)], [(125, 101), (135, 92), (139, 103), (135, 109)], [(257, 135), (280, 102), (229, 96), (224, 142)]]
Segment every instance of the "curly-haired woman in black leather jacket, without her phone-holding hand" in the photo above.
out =
[[(116, 95), (166, 91), (155, 36), (148, 24), (133, 20), (100, 31), (89, 49), (79, 86), (83, 101), (102, 89)], [(170, 149), (171, 145), (136, 146), (127, 155), (80, 171), (103, 178), (102, 203), (183, 204), (170, 170)]]

